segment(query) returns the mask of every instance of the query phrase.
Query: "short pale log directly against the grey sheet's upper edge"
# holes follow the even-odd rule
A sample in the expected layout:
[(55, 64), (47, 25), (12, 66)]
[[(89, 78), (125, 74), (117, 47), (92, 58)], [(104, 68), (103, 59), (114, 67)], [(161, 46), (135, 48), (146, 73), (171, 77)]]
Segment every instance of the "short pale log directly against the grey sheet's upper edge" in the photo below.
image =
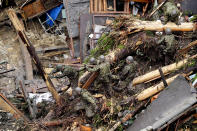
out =
[[(179, 75), (175, 75), (175, 76), (167, 79), (166, 80), (167, 84), (169, 85), (170, 83), (172, 83), (174, 81), (174, 79), (177, 78), (177, 76), (179, 76)], [(160, 82), (159, 84), (151, 86), (151, 87), (145, 89), (144, 91), (142, 91), (139, 95), (137, 95), (136, 100), (143, 101), (143, 100), (159, 93), (164, 88), (165, 88), (165, 86), (164, 86), (163, 82)]]

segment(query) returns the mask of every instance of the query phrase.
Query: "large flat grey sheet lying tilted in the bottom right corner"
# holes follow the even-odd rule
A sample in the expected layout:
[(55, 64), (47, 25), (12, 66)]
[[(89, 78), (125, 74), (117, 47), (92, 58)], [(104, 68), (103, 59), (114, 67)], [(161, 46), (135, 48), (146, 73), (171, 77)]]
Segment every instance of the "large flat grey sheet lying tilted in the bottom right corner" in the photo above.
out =
[[(194, 88), (193, 88), (194, 89)], [(140, 113), (128, 131), (140, 131), (147, 127), (156, 130), (165, 127), (169, 121), (197, 103), (196, 93), (183, 76), (178, 76), (158, 99)], [(168, 123), (169, 124), (169, 123)]]

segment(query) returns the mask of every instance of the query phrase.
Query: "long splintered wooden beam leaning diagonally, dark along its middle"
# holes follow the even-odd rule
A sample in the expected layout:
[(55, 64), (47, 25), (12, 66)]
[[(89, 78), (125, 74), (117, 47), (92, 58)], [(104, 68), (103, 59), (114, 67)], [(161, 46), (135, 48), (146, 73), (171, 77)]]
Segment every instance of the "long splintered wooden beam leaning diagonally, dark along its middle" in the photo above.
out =
[(56, 103), (60, 106), (62, 103), (62, 99), (59, 96), (58, 92), (56, 91), (51, 79), (49, 78), (49, 76), (45, 73), (43, 66), (36, 54), (35, 48), (33, 47), (33, 45), (31, 44), (31, 42), (29, 41), (28, 37), (26, 36), (24, 31), (21, 31), (21, 23), (16, 15), (16, 12), (13, 9), (9, 9), (8, 10), (8, 16), (10, 17), (10, 20), (12, 21), (17, 34), (19, 35), (19, 37), (21, 38), (23, 44), (27, 47), (27, 50), (29, 52), (29, 54), (31, 55), (33, 62), (35, 63), (36, 67), (38, 68), (39, 72), (42, 75), (43, 80), (46, 82), (46, 85), (48, 87), (48, 90), (51, 92), (51, 94), (53, 95)]

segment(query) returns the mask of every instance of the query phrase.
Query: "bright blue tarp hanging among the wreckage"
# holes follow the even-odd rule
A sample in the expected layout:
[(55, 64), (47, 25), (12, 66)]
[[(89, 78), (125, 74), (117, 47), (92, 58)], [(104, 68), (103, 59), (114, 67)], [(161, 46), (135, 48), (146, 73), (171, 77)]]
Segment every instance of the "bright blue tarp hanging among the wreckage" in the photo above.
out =
[[(61, 4), (60, 6), (58, 7), (55, 7), (53, 9), (51, 9), (50, 11), (48, 11), (48, 14), (51, 16), (51, 18), (53, 19), (53, 21), (55, 21), (59, 15), (59, 13), (61, 12), (61, 9), (63, 7), (63, 4)], [(53, 26), (53, 21), (52, 20), (48, 20), (49, 17), (47, 16), (46, 20), (47, 20), (47, 25), (49, 26)]]

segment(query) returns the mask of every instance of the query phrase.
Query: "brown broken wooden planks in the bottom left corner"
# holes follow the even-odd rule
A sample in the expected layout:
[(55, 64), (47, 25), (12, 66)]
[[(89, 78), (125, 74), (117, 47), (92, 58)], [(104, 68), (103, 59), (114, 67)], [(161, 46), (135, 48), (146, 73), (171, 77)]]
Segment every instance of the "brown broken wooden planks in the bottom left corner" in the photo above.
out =
[(3, 94), (0, 93), (0, 108), (6, 112), (11, 113), (16, 119), (23, 119), (29, 122), (29, 119), (20, 112)]

